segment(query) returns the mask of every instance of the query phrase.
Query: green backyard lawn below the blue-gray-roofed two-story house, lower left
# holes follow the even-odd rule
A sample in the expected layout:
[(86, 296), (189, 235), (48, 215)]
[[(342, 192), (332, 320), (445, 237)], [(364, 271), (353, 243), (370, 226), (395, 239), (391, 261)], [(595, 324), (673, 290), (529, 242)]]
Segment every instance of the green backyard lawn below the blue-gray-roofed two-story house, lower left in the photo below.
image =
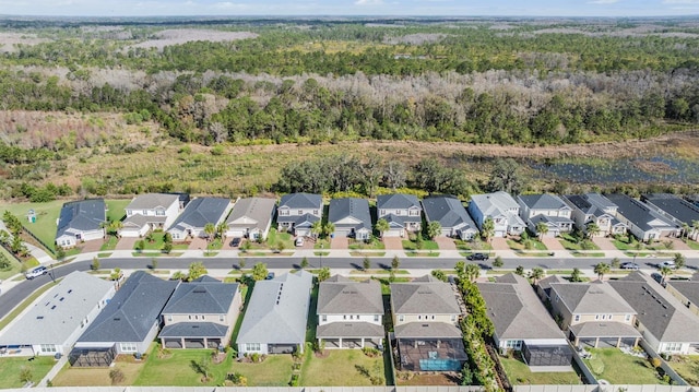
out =
[(156, 353), (157, 349), (154, 349), (149, 355), (134, 385), (220, 385), (233, 364), (233, 355), (229, 353), (223, 363), (211, 365), (211, 379), (202, 383), (202, 376), (194, 371), (192, 363), (200, 360), (203, 356), (211, 356), (211, 349), (173, 349), (171, 356), (167, 358), (158, 358)]

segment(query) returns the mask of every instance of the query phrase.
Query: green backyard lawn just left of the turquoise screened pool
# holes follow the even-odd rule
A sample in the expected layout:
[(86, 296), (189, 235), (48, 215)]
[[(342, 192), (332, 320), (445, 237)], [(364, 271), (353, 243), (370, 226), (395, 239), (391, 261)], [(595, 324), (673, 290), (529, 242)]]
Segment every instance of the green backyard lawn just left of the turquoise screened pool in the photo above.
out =
[(370, 358), (359, 349), (327, 351), (324, 358), (313, 353), (306, 355), (301, 367), (300, 384), (304, 387), (371, 387), (362, 370), (383, 379), (383, 357)]

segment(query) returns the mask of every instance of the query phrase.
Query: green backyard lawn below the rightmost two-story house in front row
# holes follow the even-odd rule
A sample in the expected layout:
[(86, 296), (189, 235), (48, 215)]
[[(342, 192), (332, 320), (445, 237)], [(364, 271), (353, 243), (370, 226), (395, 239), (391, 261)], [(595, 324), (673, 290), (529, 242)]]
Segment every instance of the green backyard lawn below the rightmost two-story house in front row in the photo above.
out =
[(618, 348), (588, 351), (592, 358), (584, 361), (597, 380), (607, 380), (613, 385), (663, 383), (648, 359), (624, 354)]

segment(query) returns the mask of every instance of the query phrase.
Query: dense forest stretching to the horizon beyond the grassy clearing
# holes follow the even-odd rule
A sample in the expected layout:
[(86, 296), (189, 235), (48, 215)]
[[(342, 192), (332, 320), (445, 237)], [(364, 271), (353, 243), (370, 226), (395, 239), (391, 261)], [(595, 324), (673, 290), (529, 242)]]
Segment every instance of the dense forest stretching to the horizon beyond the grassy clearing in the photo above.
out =
[(694, 19), (7, 20), (0, 37), (9, 180), (79, 149), (561, 145), (699, 121)]

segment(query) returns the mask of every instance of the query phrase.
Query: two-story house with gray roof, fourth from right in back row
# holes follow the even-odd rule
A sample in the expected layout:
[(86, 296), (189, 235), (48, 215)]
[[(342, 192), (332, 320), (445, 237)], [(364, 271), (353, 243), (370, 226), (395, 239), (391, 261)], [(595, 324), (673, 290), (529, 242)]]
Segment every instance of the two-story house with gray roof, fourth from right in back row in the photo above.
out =
[(536, 230), (540, 223), (548, 228), (546, 237), (558, 237), (572, 230), (572, 211), (559, 197), (550, 193), (520, 194), (517, 202), (520, 204), (520, 217), (535, 235), (541, 235)]

